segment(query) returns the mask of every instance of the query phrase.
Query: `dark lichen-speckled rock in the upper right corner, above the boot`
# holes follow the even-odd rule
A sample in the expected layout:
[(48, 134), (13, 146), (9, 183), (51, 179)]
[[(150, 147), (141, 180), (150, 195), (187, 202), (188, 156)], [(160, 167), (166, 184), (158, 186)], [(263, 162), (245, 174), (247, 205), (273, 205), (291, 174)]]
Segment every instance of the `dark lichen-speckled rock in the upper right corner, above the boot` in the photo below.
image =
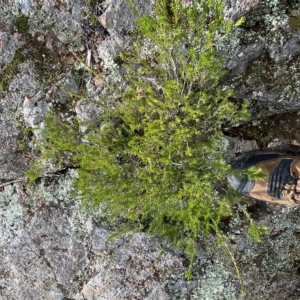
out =
[(262, 1), (239, 29), (241, 44), (231, 41), (227, 48), (227, 53), (233, 54), (230, 62), (239, 61), (239, 47), (264, 45), (247, 70), (230, 80), (230, 86), (238, 91), (237, 98), (249, 100), (258, 119), (299, 109), (299, 62), (295, 59), (299, 28), (290, 21), (295, 9), (293, 2)]

